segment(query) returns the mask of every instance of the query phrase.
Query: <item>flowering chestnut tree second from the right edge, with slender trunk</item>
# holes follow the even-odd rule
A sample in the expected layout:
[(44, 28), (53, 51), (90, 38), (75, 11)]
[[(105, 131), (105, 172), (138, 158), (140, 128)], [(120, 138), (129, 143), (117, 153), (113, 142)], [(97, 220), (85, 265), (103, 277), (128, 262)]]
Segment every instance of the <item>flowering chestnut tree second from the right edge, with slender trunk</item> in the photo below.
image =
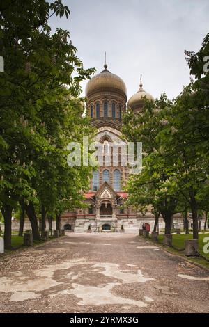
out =
[(199, 193), (208, 180), (207, 155), (200, 149), (202, 144), (206, 150), (206, 143), (201, 141), (200, 126), (196, 128), (196, 121), (201, 115), (201, 101), (199, 93), (194, 93), (193, 84), (185, 88), (168, 117), (170, 124), (158, 136), (160, 142), (167, 143), (165, 155), (175, 161), (173, 175), (165, 186), (171, 192), (172, 189), (173, 192), (179, 191), (191, 209), (194, 239), (198, 239), (198, 211), (203, 209)]

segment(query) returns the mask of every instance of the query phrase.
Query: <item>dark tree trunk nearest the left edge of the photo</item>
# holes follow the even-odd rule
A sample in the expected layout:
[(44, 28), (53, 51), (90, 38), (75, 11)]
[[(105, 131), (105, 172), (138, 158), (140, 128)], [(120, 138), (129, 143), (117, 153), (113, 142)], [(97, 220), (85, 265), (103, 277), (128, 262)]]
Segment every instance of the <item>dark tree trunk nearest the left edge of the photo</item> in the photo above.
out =
[(3, 206), (1, 209), (4, 218), (4, 248), (12, 249), (12, 212), (10, 205)]

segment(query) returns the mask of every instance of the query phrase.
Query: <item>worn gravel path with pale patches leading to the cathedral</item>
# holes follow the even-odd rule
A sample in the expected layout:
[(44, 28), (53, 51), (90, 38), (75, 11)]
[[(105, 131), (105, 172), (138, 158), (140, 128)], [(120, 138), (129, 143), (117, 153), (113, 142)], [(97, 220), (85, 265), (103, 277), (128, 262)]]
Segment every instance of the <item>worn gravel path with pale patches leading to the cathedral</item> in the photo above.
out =
[(0, 312), (209, 312), (209, 273), (133, 234), (73, 234), (0, 259)]

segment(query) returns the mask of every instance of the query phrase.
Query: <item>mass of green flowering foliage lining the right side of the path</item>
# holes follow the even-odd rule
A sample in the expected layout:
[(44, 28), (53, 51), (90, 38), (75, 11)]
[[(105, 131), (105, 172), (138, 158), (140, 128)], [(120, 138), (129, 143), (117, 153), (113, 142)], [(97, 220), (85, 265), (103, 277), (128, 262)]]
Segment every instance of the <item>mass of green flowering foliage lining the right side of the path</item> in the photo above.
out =
[(128, 184), (130, 204), (142, 213), (151, 205), (165, 222), (171, 214), (190, 210), (197, 238), (199, 211), (208, 211), (209, 203), (209, 74), (203, 71), (209, 35), (198, 53), (186, 54), (196, 81), (173, 102), (162, 95), (146, 101), (140, 113), (127, 112), (123, 134), (143, 143), (143, 170)]

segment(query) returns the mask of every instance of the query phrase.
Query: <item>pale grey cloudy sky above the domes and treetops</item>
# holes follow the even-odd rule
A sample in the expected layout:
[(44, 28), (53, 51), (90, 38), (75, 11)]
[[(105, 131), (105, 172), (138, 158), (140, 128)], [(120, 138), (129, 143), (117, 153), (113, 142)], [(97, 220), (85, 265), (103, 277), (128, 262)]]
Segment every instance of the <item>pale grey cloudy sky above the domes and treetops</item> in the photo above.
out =
[[(184, 50), (198, 51), (209, 32), (208, 0), (63, 0), (69, 19), (52, 17), (54, 30), (70, 31), (84, 67), (104, 65), (120, 76), (129, 98), (139, 88), (172, 99), (189, 83)], [(82, 84), (85, 89), (86, 82)]]

